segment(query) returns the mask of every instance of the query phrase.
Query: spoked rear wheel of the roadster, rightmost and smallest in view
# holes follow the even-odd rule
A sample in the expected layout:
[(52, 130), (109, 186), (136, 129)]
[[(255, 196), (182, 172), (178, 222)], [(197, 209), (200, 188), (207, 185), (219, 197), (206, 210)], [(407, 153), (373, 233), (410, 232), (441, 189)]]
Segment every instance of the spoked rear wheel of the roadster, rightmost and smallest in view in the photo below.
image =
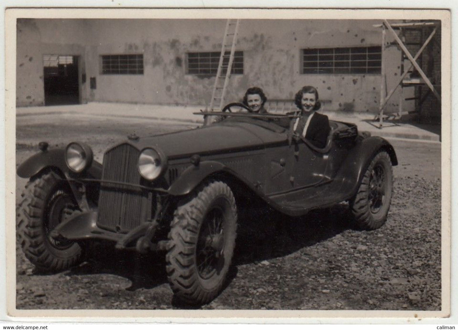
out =
[(393, 195), (393, 167), (390, 156), (380, 151), (365, 171), (350, 209), (361, 229), (382, 227), (387, 221)]

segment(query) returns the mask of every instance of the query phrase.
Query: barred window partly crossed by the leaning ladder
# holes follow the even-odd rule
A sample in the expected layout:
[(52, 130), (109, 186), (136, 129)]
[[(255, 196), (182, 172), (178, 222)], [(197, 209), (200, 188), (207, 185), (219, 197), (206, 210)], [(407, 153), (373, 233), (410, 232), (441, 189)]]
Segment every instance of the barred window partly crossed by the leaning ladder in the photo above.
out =
[[(199, 52), (187, 54), (187, 74), (189, 75), (216, 75), (218, 71), (220, 52)], [(223, 74), (226, 74), (230, 52), (224, 53)], [(226, 66), (226, 68), (224, 68)], [(234, 52), (232, 75), (243, 75), (243, 51)]]

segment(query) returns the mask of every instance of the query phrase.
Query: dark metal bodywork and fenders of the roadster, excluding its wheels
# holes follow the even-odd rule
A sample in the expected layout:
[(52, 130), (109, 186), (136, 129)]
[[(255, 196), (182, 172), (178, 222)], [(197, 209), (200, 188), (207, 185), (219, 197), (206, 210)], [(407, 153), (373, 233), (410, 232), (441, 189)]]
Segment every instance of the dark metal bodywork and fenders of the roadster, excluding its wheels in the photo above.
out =
[[(354, 128), (348, 123), (331, 124), (336, 133)], [(202, 128), (129, 138), (105, 152), (103, 168), (94, 161), (87, 171), (79, 175), (71, 173), (66, 167), (63, 149), (47, 150), (32, 156), (18, 167), (17, 174), (29, 177), (52, 167), (73, 179), (76, 177), (75, 180), (83, 178), (85, 181), (94, 179), (100, 182), (96, 185), (100, 198), (113, 197), (117, 202), (111, 204), (109, 200), (104, 200), (102, 208), (99, 200), (98, 209), (86, 210), (84, 215), (77, 216), (84, 225), (78, 227), (78, 220), (71, 219), (56, 230), (61, 229), (58, 234), (72, 240), (105, 236), (107, 240), (118, 240), (136, 230), (144, 230), (146, 223), (157, 219), (160, 208), (152, 206), (146, 210), (156, 201), (152, 194), (160, 192), (163, 196), (181, 198), (209, 179), (229, 178), (232, 185), (239, 185), (243, 191), (257, 195), (272, 208), (292, 216), (348, 200), (356, 193), (365, 169), (378, 150), (386, 149), (393, 165), (397, 164), (394, 149), (386, 140), (357, 137), (356, 129), (350, 131), (353, 133), (349, 136), (335, 138), (329, 151), (322, 153), (301, 139), (291, 138), (290, 128), (277, 125), (275, 120), (229, 118)], [(126, 173), (127, 169), (138, 171), (138, 155), (145, 148), (157, 149), (167, 163), (161, 176), (152, 182), (141, 178), (138, 172), (134, 176)], [(108, 171), (110, 161), (114, 163)], [(123, 166), (127, 167), (123, 170)], [(124, 174), (117, 179), (104, 176), (105, 171), (110, 175)], [(137, 179), (129, 181), (134, 177)], [(72, 185), (73, 181), (69, 184)], [(122, 201), (130, 201), (130, 206), (119, 207)], [(142, 207), (135, 207), (137, 204)], [(99, 223), (97, 213), (100, 215), (102, 209), (102, 218), (106, 220)], [(119, 209), (120, 213), (113, 211), (115, 209)], [(132, 216), (136, 220), (122, 225), (122, 221), (131, 221), (123, 220), (122, 214), (127, 216), (132, 212), (138, 213)]]

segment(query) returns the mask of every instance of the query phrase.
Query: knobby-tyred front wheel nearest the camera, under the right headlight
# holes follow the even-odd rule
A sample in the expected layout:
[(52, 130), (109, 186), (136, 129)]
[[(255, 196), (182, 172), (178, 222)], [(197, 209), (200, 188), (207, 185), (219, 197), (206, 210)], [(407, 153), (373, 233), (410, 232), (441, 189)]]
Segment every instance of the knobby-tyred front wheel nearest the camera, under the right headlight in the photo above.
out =
[(202, 305), (221, 291), (231, 263), (237, 208), (229, 186), (203, 186), (175, 211), (166, 255), (167, 275), (175, 298)]

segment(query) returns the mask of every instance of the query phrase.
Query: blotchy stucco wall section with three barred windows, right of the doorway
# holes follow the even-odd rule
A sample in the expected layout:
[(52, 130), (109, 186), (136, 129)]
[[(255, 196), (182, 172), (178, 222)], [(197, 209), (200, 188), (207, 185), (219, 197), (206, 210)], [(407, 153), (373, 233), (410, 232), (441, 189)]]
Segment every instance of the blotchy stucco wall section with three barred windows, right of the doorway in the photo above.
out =
[[(314, 85), (328, 110), (377, 112), (380, 75), (300, 74), (302, 48), (380, 45), (375, 23), (241, 21), (237, 49), (244, 51), (244, 75), (231, 77), (226, 100), (240, 100), (252, 85), (262, 87), (270, 99), (292, 98), (302, 85)], [(90, 100), (209, 104), (214, 78), (186, 75), (186, 52), (219, 51), (225, 20), (109, 20), (93, 21), (91, 27), (97, 40), (87, 48), (88, 76), (96, 77), (97, 90), (90, 91)], [(99, 55), (112, 53), (143, 53), (144, 75), (100, 75)], [(396, 47), (387, 51), (386, 63), (389, 88), (399, 71)], [(391, 108), (396, 100), (395, 95)]]

